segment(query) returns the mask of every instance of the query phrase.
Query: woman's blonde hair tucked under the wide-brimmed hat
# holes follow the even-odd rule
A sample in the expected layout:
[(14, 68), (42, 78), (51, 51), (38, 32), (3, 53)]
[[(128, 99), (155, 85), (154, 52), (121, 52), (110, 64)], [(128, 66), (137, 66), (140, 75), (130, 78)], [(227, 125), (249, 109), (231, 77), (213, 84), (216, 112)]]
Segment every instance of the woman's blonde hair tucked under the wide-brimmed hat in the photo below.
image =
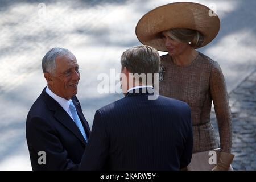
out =
[(188, 28), (174, 28), (171, 30), (164, 31), (171, 35), (172, 38), (179, 40), (180, 42), (191, 42), (190, 46), (198, 47), (204, 42), (204, 36), (196, 30)]

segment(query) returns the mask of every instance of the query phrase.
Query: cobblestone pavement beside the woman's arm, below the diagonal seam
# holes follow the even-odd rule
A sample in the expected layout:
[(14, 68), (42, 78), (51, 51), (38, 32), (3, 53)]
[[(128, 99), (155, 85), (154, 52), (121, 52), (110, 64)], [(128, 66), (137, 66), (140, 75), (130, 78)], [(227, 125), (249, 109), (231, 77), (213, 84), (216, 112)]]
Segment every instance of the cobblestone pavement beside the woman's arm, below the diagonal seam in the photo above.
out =
[[(229, 94), (232, 111), (234, 170), (256, 170), (256, 68)], [(216, 118), (212, 123), (217, 134)]]

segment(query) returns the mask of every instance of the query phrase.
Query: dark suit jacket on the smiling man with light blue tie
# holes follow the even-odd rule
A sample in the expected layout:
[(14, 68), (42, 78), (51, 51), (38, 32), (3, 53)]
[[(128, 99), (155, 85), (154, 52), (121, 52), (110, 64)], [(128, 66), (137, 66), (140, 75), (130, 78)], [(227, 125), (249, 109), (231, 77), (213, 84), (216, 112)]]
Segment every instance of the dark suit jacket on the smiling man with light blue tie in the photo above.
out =
[[(84, 154), (86, 141), (67, 112), (44, 88), (32, 105), (26, 124), (26, 137), (33, 170), (74, 170)], [(72, 101), (89, 138), (90, 128), (74, 96)], [(38, 164), (39, 151), (46, 152), (46, 165)]]

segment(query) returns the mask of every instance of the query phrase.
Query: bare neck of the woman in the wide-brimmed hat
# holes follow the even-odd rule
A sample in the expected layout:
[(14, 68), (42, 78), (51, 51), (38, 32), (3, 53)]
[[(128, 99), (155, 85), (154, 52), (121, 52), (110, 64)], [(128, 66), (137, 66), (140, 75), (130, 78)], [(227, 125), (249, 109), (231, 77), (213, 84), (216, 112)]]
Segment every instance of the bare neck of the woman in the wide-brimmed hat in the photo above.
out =
[(172, 60), (175, 64), (184, 66), (192, 63), (192, 61), (196, 58), (198, 54), (199, 53), (195, 49), (189, 48), (180, 55), (172, 56)]

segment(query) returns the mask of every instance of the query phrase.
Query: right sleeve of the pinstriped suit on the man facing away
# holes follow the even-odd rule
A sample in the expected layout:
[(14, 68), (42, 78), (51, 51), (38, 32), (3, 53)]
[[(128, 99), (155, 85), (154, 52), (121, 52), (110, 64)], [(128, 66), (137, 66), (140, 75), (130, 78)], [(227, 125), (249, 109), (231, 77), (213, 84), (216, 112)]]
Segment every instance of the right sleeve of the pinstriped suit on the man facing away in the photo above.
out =
[(193, 152), (193, 129), (192, 129), (192, 120), (191, 120), (191, 109), (188, 106), (188, 109), (184, 114), (185, 118), (185, 130), (186, 138), (184, 142), (184, 150), (180, 159), (180, 169), (187, 167), (191, 162), (192, 152)]

